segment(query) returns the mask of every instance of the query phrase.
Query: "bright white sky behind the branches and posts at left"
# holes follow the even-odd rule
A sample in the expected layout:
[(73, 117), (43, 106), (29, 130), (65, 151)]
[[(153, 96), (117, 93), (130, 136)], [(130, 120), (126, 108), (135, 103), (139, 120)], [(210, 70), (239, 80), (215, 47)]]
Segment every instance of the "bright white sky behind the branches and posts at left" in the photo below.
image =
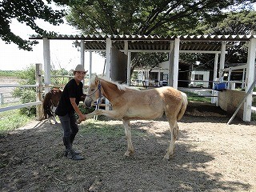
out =
[[(66, 21), (60, 26), (50, 25), (48, 22), (38, 21), (38, 26), (44, 30), (57, 32), (58, 34), (80, 34)], [(10, 25), (14, 34), (18, 34), (24, 39), (29, 39), (30, 35), (36, 34), (26, 24), (22, 24), (17, 20), (12, 20)], [(39, 44), (34, 46), (33, 51), (19, 50), (14, 43), (6, 44), (0, 39), (0, 70), (26, 70), (28, 66), (35, 63), (42, 63), (43, 67), (43, 47), (42, 40), (38, 40)], [(74, 70), (75, 66), (81, 63), (81, 54), (77, 48), (72, 46), (73, 40), (50, 40), (50, 60), (55, 70), (64, 68), (66, 70)], [(85, 69), (89, 69), (89, 52), (85, 53)], [(92, 54), (92, 73), (102, 74), (105, 58), (99, 54)]]

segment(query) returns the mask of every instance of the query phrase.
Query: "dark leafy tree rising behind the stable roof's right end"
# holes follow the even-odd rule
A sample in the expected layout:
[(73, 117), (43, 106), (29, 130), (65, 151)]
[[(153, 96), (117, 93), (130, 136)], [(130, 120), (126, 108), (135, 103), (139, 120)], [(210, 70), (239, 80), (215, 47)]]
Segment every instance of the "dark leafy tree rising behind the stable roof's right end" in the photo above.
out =
[[(209, 23), (206, 27), (207, 34), (250, 34), (256, 29), (256, 11), (241, 10), (238, 12), (228, 12), (221, 22)], [(247, 62), (247, 42), (228, 42), (226, 54), (226, 66), (233, 63)], [(206, 68), (214, 68), (214, 54), (186, 54), (182, 55), (186, 61), (199, 61)], [(193, 58), (193, 60), (191, 60)]]

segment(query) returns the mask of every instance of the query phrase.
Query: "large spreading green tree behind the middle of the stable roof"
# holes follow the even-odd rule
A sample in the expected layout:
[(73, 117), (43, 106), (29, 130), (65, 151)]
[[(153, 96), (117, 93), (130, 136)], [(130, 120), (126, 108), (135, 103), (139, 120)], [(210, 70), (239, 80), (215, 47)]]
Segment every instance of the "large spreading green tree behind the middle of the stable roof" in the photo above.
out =
[[(203, 34), (206, 24), (225, 18), (222, 10), (238, 5), (247, 8), (251, 2), (256, 0), (79, 0), (68, 4), (66, 18), (85, 34)], [(136, 58), (141, 54), (132, 56), (133, 69), (142, 62)]]

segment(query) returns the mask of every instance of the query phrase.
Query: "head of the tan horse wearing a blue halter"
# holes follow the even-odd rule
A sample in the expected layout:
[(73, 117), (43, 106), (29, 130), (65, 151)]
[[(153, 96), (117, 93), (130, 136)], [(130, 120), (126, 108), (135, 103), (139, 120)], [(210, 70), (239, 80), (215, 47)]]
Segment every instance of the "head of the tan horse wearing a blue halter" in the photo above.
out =
[(90, 85), (86, 93), (85, 104), (86, 107), (92, 106), (93, 102), (97, 102), (98, 98), (102, 97), (102, 87), (100, 80), (96, 74), (90, 78)]

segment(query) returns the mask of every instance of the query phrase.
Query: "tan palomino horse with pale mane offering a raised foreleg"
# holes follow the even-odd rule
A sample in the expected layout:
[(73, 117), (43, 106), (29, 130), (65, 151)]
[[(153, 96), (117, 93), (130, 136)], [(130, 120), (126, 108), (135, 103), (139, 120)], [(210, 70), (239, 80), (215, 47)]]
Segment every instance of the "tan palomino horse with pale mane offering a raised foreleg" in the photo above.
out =
[(181, 119), (187, 106), (186, 94), (170, 86), (150, 90), (135, 90), (117, 82), (111, 82), (97, 75), (90, 79), (90, 86), (86, 94), (85, 104), (91, 106), (101, 96), (105, 96), (112, 105), (112, 110), (94, 110), (86, 114), (86, 118), (94, 115), (105, 115), (110, 118), (122, 119), (127, 139), (126, 156), (134, 153), (131, 142), (130, 120), (161, 118), (166, 114), (170, 125), (170, 146), (164, 156), (166, 159), (174, 154), (174, 144), (178, 135), (177, 120)]

